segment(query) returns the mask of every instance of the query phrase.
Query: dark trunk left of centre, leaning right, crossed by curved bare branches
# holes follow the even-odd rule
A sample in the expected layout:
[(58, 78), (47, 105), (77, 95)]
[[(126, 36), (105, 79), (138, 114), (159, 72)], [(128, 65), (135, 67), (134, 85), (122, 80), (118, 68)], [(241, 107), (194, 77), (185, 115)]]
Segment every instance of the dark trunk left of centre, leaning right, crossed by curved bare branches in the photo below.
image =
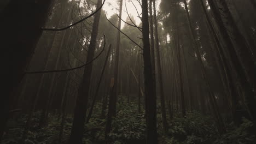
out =
[[(99, 9), (101, 4), (102, 4), (102, 0), (98, 0), (96, 9)], [(94, 17), (94, 23), (93, 23), (92, 32), (91, 32), (91, 40), (88, 48), (88, 56), (86, 58), (86, 63), (92, 61), (92, 59), (94, 58), (96, 40), (98, 35), (98, 24), (100, 23), (100, 16), (101, 16), (101, 10), (99, 10)], [(72, 125), (69, 143), (78, 143), (78, 144), (82, 143), (86, 109), (88, 106), (92, 65), (93, 63), (91, 63), (84, 69), (83, 79), (78, 89), (79, 92), (77, 95), (77, 103), (75, 104), (74, 119), (73, 119), (73, 125)]]

